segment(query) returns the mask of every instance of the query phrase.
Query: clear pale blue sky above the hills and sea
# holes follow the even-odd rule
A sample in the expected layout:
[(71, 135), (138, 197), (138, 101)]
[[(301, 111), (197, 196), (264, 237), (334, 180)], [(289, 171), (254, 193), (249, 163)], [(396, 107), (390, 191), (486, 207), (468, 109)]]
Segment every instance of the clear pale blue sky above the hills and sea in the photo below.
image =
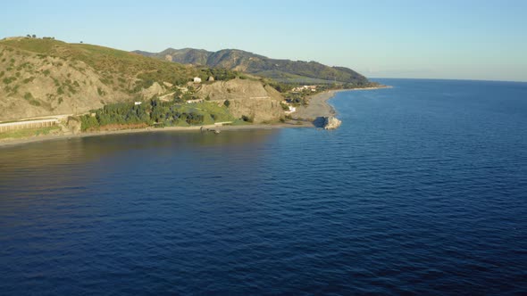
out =
[(527, 81), (527, 1), (27, 1), (2, 4), (0, 38), (159, 52), (238, 48), (367, 77)]

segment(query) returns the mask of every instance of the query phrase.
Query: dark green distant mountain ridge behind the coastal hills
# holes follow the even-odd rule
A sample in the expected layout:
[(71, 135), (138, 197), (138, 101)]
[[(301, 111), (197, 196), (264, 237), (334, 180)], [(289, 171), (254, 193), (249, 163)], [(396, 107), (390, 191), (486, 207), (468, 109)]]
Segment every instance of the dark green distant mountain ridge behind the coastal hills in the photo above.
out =
[(183, 64), (223, 68), (272, 78), (289, 83), (342, 83), (363, 86), (369, 83), (363, 75), (345, 67), (330, 67), (320, 62), (277, 60), (238, 49), (209, 52), (203, 49), (168, 48), (161, 53), (134, 51), (148, 57)]

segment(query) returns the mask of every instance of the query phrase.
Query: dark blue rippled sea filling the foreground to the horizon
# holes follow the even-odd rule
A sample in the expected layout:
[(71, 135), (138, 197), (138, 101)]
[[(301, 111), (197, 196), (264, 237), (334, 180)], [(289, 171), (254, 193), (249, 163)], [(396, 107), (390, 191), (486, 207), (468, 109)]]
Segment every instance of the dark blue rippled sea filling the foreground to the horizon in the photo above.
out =
[(0, 294), (527, 293), (527, 84), (387, 79), (343, 125), (0, 149)]

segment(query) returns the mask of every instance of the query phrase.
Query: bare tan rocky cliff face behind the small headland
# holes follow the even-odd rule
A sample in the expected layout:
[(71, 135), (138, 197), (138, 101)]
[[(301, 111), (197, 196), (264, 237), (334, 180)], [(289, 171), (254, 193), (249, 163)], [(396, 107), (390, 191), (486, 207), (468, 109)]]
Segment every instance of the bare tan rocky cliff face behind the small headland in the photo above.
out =
[(197, 95), (203, 99), (224, 103), (229, 100), (230, 113), (241, 118), (247, 116), (255, 123), (278, 121), (284, 117), (280, 106), (283, 100), (271, 86), (263, 86), (260, 81), (250, 79), (232, 79), (217, 81), (201, 86)]

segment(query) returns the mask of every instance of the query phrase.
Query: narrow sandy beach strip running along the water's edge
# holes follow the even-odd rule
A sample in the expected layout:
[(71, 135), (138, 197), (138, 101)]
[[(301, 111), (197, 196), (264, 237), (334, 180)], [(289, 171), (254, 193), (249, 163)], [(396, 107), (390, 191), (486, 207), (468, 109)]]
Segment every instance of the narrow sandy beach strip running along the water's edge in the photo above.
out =
[[(16, 146), (21, 144), (31, 144), (45, 141), (54, 141), (54, 140), (68, 140), (74, 138), (84, 138), (91, 136), (112, 136), (112, 135), (127, 135), (127, 134), (138, 134), (138, 133), (165, 133), (165, 132), (199, 132), (201, 127), (204, 128), (219, 128), (221, 131), (240, 131), (240, 130), (255, 130), (255, 129), (280, 129), (280, 128), (289, 128), (289, 127), (316, 127), (313, 122), (316, 118), (335, 116), (337, 111), (333, 106), (331, 106), (327, 101), (332, 97), (337, 95), (340, 92), (356, 91), (356, 90), (373, 90), (381, 88), (391, 88), (391, 86), (377, 86), (377, 87), (364, 87), (364, 88), (352, 88), (352, 89), (334, 89), (325, 91), (313, 95), (309, 99), (309, 105), (307, 107), (302, 107), (298, 110), (298, 114), (314, 114), (314, 118), (311, 117), (301, 117), (297, 116), (296, 123), (289, 121), (285, 123), (276, 123), (276, 124), (250, 124), (244, 126), (215, 126), (215, 125), (206, 125), (206, 126), (195, 126), (195, 127), (146, 127), (138, 129), (121, 129), (113, 131), (102, 131), (102, 132), (88, 132), (88, 133), (79, 133), (79, 134), (69, 134), (69, 135), (52, 135), (52, 136), (32, 136), (28, 138), (12, 139), (12, 140), (0, 140), (0, 148)], [(311, 108), (310, 108), (311, 106)], [(305, 111), (307, 110), (307, 111)]]

